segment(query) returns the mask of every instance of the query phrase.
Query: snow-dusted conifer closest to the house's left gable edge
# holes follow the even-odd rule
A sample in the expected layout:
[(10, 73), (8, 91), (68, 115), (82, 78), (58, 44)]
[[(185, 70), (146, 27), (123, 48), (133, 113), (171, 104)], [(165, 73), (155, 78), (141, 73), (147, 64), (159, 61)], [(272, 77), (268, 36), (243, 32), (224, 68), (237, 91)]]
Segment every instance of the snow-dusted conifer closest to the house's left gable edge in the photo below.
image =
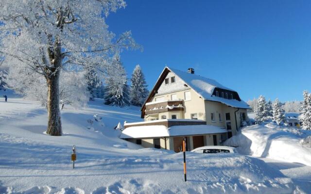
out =
[(144, 74), (141, 71), (140, 65), (136, 65), (131, 78), (131, 104), (134, 106), (142, 106), (148, 93)]

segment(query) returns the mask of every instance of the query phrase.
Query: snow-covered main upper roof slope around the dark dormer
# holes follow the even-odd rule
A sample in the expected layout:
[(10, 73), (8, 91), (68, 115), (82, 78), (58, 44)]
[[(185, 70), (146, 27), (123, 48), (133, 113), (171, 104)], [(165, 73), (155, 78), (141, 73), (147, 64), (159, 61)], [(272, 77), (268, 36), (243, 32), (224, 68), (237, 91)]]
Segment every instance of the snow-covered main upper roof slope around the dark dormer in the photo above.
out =
[(167, 68), (171, 70), (175, 75), (177, 75), (180, 79), (185, 81), (185, 83), (190, 88), (195, 90), (205, 100), (221, 102), (231, 107), (250, 109), (250, 106), (243, 100), (239, 101), (236, 99), (226, 99), (223, 97), (212, 96), (215, 88), (221, 88), (232, 92), (236, 92), (230, 88), (223, 86), (222, 84), (218, 83), (215, 80), (208, 79), (196, 74), (190, 74), (171, 67)]

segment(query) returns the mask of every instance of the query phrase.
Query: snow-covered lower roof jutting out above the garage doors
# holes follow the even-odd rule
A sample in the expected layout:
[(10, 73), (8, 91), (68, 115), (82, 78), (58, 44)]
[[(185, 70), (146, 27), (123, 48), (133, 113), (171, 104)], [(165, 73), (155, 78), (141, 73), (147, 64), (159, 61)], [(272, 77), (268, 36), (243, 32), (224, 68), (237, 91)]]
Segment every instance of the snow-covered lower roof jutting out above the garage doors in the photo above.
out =
[(226, 129), (212, 125), (182, 125), (170, 128), (164, 125), (152, 125), (126, 128), (122, 131), (120, 138), (155, 138), (225, 132), (227, 132)]

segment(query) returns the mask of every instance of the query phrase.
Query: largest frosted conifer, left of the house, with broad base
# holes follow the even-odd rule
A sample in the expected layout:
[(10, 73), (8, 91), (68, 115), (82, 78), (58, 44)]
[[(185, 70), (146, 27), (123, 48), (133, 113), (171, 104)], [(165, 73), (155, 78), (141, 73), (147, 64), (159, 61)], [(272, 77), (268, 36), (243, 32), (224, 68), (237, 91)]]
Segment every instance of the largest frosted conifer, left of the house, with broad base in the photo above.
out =
[(129, 106), (129, 86), (127, 75), (120, 61), (120, 56), (115, 56), (111, 67), (107, 70), (105, 79), (104, 103), (111, 106)]

